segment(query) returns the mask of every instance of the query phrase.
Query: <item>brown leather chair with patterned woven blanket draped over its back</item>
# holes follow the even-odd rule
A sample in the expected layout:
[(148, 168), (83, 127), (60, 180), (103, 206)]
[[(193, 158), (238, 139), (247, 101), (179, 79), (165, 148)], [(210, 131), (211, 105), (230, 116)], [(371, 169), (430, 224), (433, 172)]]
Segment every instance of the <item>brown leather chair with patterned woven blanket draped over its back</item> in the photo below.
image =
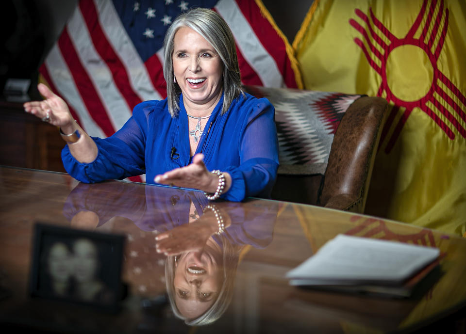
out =
[[(272, 199), (363, 213), (387, 114), (386, 100), (381, 97), (257, 86), (245, 88), (252, 95), (267, 97), (276, 110), (281, 156)], [(322, 97), (316, 97), (319, 94)], [(293, 103), (297, 99), (300, 100), (299, 106)], [(314, 127), (319, 127), (320, 123), (311, 124), (312, 121), (288, 131), (295, 120), (298, 123), (307, 122), (303, 114), (310, 116), (313, 113), (319, 119), (327, 118), (321, 123), (324, 129), (320, 134), (314, 134)], [(311, 115), (310, 118), (316, 115)], [(302, 136), (303, 129), (313, 131), (316, 141), (333, 131), (327, 152), (325, 141), (328, 138), (321, 138), (312, 148), (318, 152), (315, 157), (326, 156), (327, 161), (322, 163), (322, 159), (303, 158), (303, 151), (309, 150), (310, 145)], [(290, 160), (291, 146), (295, 147), (295, 159)]]

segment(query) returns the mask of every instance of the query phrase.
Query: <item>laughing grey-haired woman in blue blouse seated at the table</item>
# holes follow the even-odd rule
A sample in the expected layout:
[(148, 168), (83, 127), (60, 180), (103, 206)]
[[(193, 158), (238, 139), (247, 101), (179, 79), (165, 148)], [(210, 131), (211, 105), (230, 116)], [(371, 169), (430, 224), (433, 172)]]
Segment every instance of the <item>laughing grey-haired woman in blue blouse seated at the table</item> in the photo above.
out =
[(45, 85), (38, 88), (46, 100), (25, 111), (60, 127), (65, 168), (80, 181), (145, 173), (149, 183), (199, 189), (209, 200), (268, 197), (278, 167), (274, 109), (243, 92), (225, 21), (208, 9), (183, 13), (164, 49), (167, 98), (138, 104), (107, 139), (89, 137)]

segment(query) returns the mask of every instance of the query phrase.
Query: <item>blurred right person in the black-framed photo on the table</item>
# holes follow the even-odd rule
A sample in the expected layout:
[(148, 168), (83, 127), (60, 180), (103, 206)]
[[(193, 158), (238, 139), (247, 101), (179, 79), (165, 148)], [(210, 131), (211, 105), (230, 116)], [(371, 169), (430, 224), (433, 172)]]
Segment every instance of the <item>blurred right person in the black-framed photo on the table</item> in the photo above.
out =
[(110, 302), (112, 293), (99, 278), (99, 252), (89, 239), (73, 243), (74, 278), (76, 297), (86, 302)]

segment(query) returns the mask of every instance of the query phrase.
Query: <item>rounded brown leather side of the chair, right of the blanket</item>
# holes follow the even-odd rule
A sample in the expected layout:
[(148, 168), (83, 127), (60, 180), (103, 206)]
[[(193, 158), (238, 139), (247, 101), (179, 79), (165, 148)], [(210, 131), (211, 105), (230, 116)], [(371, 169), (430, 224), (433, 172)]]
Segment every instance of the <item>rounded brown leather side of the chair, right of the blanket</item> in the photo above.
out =
[(320, 205), (363, 213), (388, 103), (360, 97), (345, 112), (333, 138)]

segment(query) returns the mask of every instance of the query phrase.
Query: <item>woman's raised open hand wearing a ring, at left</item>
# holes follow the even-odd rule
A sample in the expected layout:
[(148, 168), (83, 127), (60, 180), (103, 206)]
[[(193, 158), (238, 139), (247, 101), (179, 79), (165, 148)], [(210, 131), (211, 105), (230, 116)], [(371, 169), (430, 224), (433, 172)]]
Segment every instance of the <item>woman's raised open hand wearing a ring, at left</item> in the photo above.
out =
[[(24, 111), (36, 117), (47, 120), (51, 125), (66, 129), (70, 127), (74, 120), (69, 112), (66, 102), (58, 95), (55, 95), (49, 87), (43, 83), (37, 85), (37, 89), (45, 99), (42, 101), (31, 101), (24, 103)], [(47, 115), (49, 115), (47, 119)]]

